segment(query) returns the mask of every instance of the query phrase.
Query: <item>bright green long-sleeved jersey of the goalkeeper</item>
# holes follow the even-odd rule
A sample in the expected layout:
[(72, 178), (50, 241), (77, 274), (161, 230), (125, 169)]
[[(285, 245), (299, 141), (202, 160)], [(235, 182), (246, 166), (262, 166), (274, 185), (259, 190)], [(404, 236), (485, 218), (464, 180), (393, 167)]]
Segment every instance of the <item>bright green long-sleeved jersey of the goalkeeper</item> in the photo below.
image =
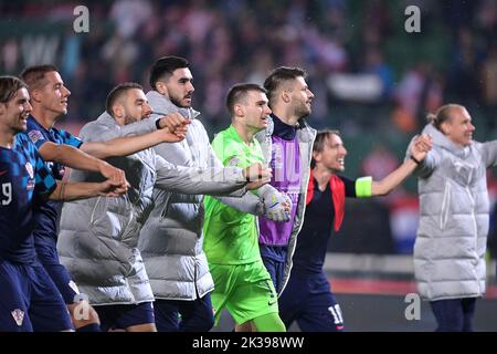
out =
[[(261, 145), (253, 139), (244, 143), (230, 125), (220, 132), (212, 147), (224, 166), (248, 167), (263, 163)], [(205, 196), (203, 250), (212, 264), (245, 264), (261, 259), (255, 216), (241, 212), (213, 197)]]

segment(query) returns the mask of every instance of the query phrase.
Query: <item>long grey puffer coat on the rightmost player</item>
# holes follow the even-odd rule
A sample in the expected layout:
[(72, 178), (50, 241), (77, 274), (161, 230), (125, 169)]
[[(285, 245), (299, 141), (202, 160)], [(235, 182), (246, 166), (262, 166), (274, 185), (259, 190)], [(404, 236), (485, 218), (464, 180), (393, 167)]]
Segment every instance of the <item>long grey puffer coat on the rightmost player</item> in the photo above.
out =
[(486, 168), (497, 164), (497, 140), (459, 147), (431, 124), (423, 133), (432, 135), (434, 146), (415, 170), (419, 292), (429, 301), (483, 296), (490, 210)]

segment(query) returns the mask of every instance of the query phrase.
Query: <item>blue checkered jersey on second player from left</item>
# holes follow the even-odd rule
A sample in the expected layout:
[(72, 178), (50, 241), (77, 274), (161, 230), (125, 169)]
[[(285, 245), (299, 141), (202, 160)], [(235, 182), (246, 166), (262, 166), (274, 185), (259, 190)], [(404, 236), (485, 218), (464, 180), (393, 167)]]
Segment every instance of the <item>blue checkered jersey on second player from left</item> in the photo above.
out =
[[(40, 148), (46, 142), (55, 144), (66, 144), (80, 148), (83, 144), (77, 137), (71, 133), (50, 128), (45, 129), (32, 116), (28, 118), (28, 129), (25, 134), (31, 142)], [(65, 167), (59, 163), (46, 162), (46, 167), (52, 171), (55, 179), (62, 179), (65, 174)], [(62, 204), (55, 200), (46, 200), (34, 212), (36, 227), (34, 233), (34, 246), (42, 263), (59, 264), (59, 256), (56, 251), (57, 241), (57, 218)]]

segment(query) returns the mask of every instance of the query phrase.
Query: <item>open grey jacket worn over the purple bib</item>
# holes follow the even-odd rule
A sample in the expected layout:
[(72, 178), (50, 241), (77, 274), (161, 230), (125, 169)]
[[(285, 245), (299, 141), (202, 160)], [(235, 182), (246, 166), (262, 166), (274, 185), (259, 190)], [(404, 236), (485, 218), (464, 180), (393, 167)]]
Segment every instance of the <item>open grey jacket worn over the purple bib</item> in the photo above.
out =
[[(294, 225), (292, 227), (292, 233), (288, 239), (287, 257), (285, 261), (285, 269), (283, 271), (283, 282), (282, 289), (279, 290), (278, 296), (285, 290), (286, 284), (290, 275), (293, 267), (293, 257), (295, 253), (295, 248), (297, 246), (297, 236), (300, 232), (302, 226), (304, 223), (304, 215), (306, 211), (306, 196), (307, 196), (307, 183), (309, 180), (310, 173), (310, 160), (313, 158), (313, 145), (316, 138), (317, 131), (310, 127), (306, 119), (299, 121), (300, 127), (297, 129), (297, 139), (299, 146), (300, 155), (300, 195), (298, 197), (297, 214), (295, 215)], [(272, 158), (273, 140), (272, 135), (274, 131), (274, 123), (271, 117), (268, 117), (268, 125), (265, 131), (262, 131), (255, 135), (261, 144), (265, 164), (269, 166)]]

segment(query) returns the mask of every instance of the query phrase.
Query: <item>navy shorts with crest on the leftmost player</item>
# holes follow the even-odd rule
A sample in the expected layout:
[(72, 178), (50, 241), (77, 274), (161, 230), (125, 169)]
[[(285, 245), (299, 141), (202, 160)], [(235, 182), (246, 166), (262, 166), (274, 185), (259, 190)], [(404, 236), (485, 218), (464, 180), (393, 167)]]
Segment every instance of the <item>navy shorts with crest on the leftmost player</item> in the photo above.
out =
[(67, 306), (41, 266), (0, 260), (0, 331), (73, 330)]

